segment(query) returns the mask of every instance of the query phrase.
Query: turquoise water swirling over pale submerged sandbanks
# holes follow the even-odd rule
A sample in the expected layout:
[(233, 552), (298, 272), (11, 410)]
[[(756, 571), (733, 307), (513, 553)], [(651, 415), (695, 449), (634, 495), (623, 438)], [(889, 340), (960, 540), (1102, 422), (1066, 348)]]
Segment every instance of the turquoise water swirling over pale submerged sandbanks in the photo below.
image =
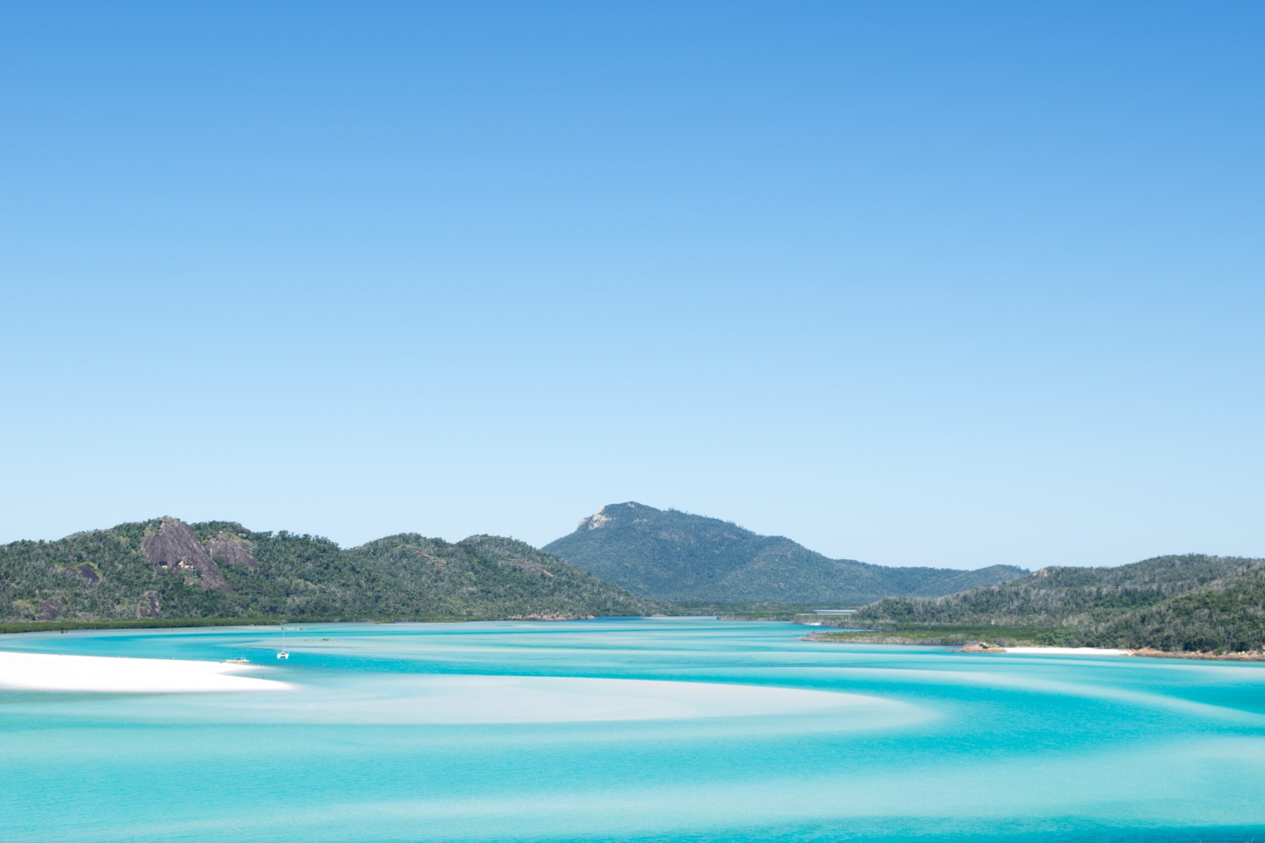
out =
[[(0, 690), (0, 840), (1256, 840), (1265, 666), (702, 619), (5, 636), (285, 691)], [(328, 638), (329, 641), (323, 641)]]

